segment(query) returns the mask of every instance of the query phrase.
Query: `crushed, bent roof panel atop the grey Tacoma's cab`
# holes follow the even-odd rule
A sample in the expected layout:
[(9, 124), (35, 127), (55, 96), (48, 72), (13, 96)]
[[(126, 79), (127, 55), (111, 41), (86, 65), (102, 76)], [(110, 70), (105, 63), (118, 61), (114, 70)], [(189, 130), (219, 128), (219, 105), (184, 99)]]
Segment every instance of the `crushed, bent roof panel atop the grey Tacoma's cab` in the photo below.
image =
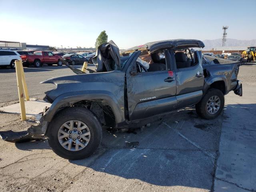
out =
[(154, 50), (165, 48), (165, 47), (172, 47), (172, 48), (179, 48), (179, 49), (191, 48), (191, 47), (204, 48), (204, 43), (196, 39), (162, 40), (162, 41), (149, 42), (144, 45), (135, 46), (125, 50), (124, 52), (136, 50), (136, 49), (138, 50), (146, 49), (152, 52)]

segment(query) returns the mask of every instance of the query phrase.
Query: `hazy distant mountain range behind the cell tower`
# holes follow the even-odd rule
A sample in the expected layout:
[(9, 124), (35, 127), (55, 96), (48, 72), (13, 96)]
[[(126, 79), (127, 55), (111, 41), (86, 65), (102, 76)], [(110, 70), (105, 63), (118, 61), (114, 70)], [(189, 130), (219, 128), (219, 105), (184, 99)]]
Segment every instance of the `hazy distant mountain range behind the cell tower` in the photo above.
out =
[[(222, 39), (203, 40), (205, 48), (204, 50), (210, 50), (217, 46), (222, 46)], [(225, 46), (256, 46), (256, 39), (253, 40), (237, 40), (227, 39)]]

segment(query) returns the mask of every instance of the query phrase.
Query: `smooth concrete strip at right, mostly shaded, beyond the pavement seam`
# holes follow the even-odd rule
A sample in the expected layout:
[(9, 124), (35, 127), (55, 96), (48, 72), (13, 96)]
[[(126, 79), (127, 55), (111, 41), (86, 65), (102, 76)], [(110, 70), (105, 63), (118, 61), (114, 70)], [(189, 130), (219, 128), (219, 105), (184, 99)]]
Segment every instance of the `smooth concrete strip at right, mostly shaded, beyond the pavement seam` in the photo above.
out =
[(239, 101), (226, 96), (216, 192), (256, 191), (256, 86), (244, 86), (243, 91)]

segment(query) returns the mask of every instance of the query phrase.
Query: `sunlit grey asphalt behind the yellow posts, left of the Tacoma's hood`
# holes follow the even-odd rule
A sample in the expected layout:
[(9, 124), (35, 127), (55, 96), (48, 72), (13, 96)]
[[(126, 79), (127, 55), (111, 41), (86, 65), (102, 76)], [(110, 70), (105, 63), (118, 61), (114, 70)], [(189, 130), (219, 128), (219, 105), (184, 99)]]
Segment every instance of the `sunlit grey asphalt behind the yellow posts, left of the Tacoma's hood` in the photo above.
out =
[[(82, 69), (82, 65), (75, 65), (75, 68)], [(95, 68), (94, 64), (88, 64), (88, 68)], [(74, 75), (74, 72), (67, 66), (61, 67), (44, 65), (40, 68), (24, 67), (25, 78), (31, 98), (44, 98), (44, 92), (55, 88), (53, 84), (40, 84), (40, 82), (58, 76)], [(0, 106), (6, 106), (18, 101), (18, 87), (15, 69), (0, 69)]]

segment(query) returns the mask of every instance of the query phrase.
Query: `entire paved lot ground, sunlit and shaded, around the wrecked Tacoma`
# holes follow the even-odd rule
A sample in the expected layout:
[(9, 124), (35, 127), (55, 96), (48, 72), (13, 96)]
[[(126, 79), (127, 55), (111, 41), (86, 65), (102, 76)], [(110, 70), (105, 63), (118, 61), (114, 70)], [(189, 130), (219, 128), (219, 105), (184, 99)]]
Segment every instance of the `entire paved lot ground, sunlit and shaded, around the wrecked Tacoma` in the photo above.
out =
[[(24, 71), (30, 97), (39, 99), (54, 88), (39, 82), (74, 74), (66, 66)], [(94, 192), (255, 191), (255, 74), (256, 64), (240, 67), (244, 95), (226, 95), (224, 112), (218, 118), (204, 120), (194, 108), (186, 108), (143, 130), (103, 128), (100, 148), (84, 160), (60, 158), (46, 140), (20, 144), (0, 140), (0, 190), (74, 191), (83, 186), (84, 191)], [(1, 69), (0, 80), (4, 90), (0, 105), (17, 102), (15, 70)], [(26, 130), (33, 122), (1, 113), (0, 130)]]

